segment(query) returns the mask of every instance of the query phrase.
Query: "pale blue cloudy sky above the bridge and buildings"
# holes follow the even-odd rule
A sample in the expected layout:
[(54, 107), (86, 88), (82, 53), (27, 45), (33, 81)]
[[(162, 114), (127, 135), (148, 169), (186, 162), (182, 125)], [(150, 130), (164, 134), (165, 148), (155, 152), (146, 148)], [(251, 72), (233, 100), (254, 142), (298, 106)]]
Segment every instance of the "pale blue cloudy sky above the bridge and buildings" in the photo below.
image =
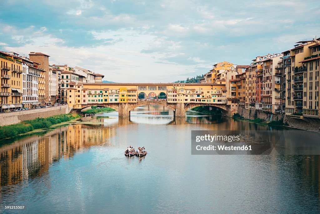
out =
[(320, 37), (310, 0), (1, 1), (0, 50), (50, 55), (115, 82), (173, 82)]

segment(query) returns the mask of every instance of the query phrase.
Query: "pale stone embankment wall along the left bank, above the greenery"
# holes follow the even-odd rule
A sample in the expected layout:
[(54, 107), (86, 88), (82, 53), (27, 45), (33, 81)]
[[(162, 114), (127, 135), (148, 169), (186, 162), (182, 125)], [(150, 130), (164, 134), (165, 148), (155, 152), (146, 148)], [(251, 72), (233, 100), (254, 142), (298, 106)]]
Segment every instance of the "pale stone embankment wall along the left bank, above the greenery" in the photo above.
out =
[(0, 126), (17, 124), (24, 120), (33, 120), (38, 117), (50, 117), (55, 115), (68, 114), (68, 105), (55, 106), (48, 108), (37, 108), (23, 111), (12, 111), (0, 113)]

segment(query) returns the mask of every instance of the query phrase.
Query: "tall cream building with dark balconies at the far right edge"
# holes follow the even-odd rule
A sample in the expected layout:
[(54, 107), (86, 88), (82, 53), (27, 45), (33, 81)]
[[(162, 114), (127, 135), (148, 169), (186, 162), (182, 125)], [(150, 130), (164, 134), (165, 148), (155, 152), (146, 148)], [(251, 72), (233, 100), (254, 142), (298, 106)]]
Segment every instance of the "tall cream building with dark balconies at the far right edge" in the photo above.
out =
[(318, 44), (319, 39), (299, 41), (294, 48), (283, 52), (286, 115), (319, 118)]

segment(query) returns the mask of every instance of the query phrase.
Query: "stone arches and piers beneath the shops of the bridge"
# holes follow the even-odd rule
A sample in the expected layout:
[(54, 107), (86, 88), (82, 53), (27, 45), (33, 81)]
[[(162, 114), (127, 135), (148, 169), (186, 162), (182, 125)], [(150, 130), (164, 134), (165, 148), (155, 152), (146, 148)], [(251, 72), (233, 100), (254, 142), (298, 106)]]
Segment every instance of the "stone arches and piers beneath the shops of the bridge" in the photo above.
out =
[(186, 111), (191, 108), (198, 106), (213, 106), (218, 107), (222, 110), (222, 113), (226, 116), (232, 116), (234, 111), (231, 110), (230, 106), (226, 104), (208, 104), (208, 103), (168, 103), (165, 100), (157, 101), (157, 100), (143, 100), (137, 101), (136, 103), (92, 103), (92, 104), (83, 104), (81, 105), (82, 110), (91, 106), (101, 106), (101, 107), (110, 107), (119, 112), (119, 117), (129, 117), (130, 111), (139, 106), (145, 105), (159, 105), (167, 107), (174, 112), (175, 117), (185, 117)]

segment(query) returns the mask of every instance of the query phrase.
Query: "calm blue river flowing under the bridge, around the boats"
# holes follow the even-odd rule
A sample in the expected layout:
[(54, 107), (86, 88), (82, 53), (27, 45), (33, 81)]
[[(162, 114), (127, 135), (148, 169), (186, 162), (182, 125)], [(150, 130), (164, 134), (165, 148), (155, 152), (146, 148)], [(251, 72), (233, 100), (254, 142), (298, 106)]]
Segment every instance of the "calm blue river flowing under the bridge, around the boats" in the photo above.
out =
[(191, 130), (269, 126), (162, 106), (83, 120), (1, 143), (2, 213), (320, 212), (318, 156), (191, 155)]

